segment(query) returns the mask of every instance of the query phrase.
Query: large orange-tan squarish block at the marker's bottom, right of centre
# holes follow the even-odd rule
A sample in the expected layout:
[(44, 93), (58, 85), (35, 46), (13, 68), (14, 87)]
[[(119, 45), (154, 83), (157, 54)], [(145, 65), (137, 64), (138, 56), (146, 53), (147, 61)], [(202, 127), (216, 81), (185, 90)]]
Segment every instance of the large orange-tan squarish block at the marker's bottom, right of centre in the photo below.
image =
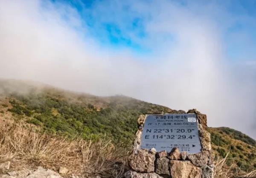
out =
[(172, 178), (201, 178), (202, 170), (190, 161), (170, 160)]

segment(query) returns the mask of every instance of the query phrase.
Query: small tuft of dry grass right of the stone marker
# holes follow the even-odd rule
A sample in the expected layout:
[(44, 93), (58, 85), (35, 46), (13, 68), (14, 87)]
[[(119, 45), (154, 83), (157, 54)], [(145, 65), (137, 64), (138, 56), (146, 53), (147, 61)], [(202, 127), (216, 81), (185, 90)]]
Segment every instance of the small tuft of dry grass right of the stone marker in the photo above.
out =
[(214, 178), (256, 177), (256, 170), (246, 173), (236, 166), (235, 161), (233, 161), (230, 166), (227, 166), (228, 154), (229, 152), (223, 159), (216, 159), (214, 163)]

